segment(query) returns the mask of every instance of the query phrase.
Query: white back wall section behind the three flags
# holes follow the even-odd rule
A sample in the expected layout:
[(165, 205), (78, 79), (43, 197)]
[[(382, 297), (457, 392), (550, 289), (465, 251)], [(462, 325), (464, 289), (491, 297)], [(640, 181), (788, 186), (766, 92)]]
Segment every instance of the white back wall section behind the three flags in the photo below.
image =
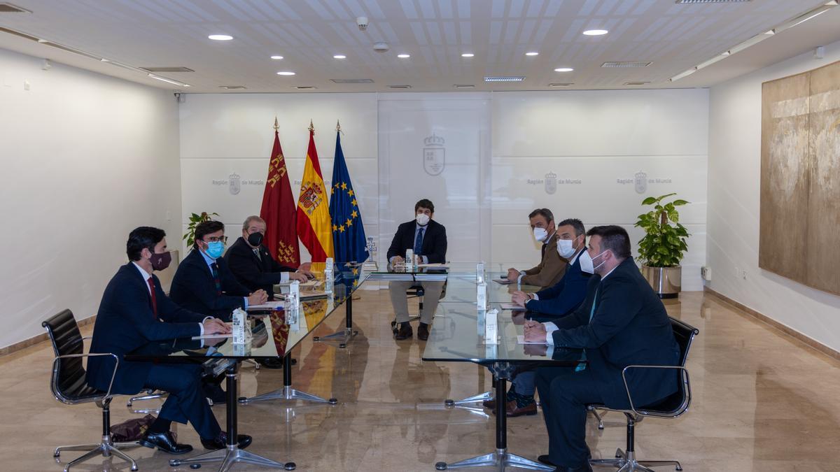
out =
[[(260, 214), (275, 116), (296, 203), (309, 144), (309, 120), (315, 127), (318, 161), (328, 186), (333, 176), (335, 125), (340, 120), (341, 149), (365, 234), (375, 235), (379, 190), (374, 93), (187, 95), (181, 103), (182, 233), (190, 213), (217, 212), (225, 233), (235, 239), (244, 219)], [(229, 186), (234, 174), (242, 184), (236, 194)], [(301, 260), (308, 261), (306, 248), (302, 244), (300, 248)]]

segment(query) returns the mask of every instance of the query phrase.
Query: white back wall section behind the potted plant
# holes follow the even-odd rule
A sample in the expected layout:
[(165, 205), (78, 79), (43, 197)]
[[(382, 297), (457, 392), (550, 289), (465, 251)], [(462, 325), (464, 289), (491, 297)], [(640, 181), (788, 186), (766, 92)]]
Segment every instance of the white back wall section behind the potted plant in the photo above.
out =
[[(539, 261), (528, 213), (580, 218), (586, 228), (618, 224), (638, 255), (633, 228), (645, 197), (672, 191), (690, 202), (680, 223), (691, 233), (683, 290), (701, 290), (706, 260), (708, 91), (501, 92), (492, 100), (492, 260)], [(634, 177), (647, 174), (647, 188)], [(552, 177), (554, 176), (554, 177)], [(556, 178), (552, 188), (546, 181)]]

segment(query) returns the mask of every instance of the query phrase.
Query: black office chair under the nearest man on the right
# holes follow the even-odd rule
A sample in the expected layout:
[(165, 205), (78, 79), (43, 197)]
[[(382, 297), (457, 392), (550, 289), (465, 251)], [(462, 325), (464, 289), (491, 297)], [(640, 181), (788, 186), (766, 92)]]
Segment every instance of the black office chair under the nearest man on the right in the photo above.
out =
[[(685, 369), (685, 361), (688, 359), (688, 352), (691, 349), (691, 341), (700, 331), (687, 323), (671, 318), (671, 328), (674, 329), (674, 337), (680, 345), (680, 365), (627, 365), (622, 370), (624, 388), (627, 389), (627, 398), (630, 400), (629, 410), (615, 410), (601, 404), (590, 405), (592, 408), (606, 410), (607, 412), (622, 412), (627, 417), (627, 452), (621, 448), (616, 450), (616, 459), (591, 459), (591, 465), (607, 465), (617, 467), (621, 472), (633, 472), (642, 470), (654, 472), (648, 467), (659, 467), (662, 465), (673, 465), (676, 470), (682, 470), (680, 461), (677, 460), (637, 460), (634, 450), (634, 433), (636, 423), (644, 417), (675, 418), (688, 410), (691, 404), (691, 382), (688, 370)], [(650, 406), (634, 406), (633, 397), (627, 386), (627, 370), (633, 369), (673, 369), (677, 371), (677, 391), (666, 397), (663, 401)]]

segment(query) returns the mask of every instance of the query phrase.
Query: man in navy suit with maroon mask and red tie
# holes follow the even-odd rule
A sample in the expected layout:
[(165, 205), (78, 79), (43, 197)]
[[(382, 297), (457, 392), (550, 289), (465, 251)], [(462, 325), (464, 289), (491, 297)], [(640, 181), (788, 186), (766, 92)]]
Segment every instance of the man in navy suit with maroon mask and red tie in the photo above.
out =
[[(88, 360), (87, 382), (108, 390), (113, 375), (112, 392), (131, 395), (144, 388), (168, 391), (160, 414), (140, 440), (147, 448), (159, 448), (170, 454), (185, 454), (188, 444), (178, 444), (170, 432), (171, 422), (192, 423), (205, 448), (225, 447), (225, 433), (218, 426), (202, 392), (201, 370), (188, 364), (153, 364), (127, 362), (123, 355), (150, 341), (186, 338), (202, 334), (229, 333), (230, 328), (214, 317), (178, 307), (160, 288), (153, 270), (169, 265), (165, 233), (162, 229), (140, 227), (129, 234), (126, 252), (130, 262), (113, 276), (97, 312), (93, 328), (92, 353), (113, 353)], [(239, 444), (247, 446), (251, 438), (239, 435)]]

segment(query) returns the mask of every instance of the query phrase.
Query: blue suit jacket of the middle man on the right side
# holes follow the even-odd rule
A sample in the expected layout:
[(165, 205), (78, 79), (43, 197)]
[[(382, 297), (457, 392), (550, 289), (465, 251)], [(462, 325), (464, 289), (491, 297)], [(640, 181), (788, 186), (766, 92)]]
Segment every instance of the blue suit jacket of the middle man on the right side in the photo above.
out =
[[(586, 249), (584, 249), (586, 250)], [(529, 300), (525, 307), (537, 317), (551, 321), (574, 312), (586, 297), (590, 274), (580, 270), (580, 255), (565, 270), (563, 278), (554, 286), (537, 292), (538, 300)], [(540, 319), (539, 321), (543, 321)]]

